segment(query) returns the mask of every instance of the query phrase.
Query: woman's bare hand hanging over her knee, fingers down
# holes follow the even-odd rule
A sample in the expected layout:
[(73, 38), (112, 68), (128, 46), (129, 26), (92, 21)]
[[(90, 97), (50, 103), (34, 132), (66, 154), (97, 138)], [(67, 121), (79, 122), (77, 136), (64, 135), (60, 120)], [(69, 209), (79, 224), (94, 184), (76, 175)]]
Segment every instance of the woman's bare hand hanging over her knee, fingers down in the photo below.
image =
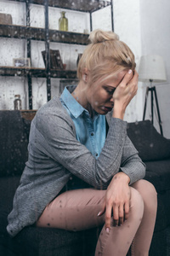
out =
[(124, 172), (118, 172), (111, 180), (105, 195), (105, 206), (99, 216), (105, 212), (105, 229), (109, 232), (113, 226), (122, 225), (128, 218), (130, 207), (130, 178)]

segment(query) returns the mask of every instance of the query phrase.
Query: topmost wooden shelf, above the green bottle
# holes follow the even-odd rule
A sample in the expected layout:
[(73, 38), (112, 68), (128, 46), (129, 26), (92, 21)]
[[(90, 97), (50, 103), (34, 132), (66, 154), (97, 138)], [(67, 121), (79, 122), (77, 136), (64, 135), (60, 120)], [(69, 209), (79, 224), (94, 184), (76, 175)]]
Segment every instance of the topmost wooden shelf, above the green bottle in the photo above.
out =
[[(26, 3), (26, 0), (10, 0), (13, 2)], [(75, 3), (76, 2), (76, 3)], [(44, 0), (30, 0), (29, 3), (44, 5)], [(82, 12), (92, 13), (98, 9), (110, 6), (111, 1), (99, 0), (48, 0), (48, 6), (59, 9), (71, 9)]]

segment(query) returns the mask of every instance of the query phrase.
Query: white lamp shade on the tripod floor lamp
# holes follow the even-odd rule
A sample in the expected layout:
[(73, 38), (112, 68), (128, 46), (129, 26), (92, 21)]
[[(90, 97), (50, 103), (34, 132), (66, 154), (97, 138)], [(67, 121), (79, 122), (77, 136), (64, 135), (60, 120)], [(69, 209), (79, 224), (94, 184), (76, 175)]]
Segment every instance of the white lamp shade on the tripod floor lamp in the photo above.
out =
[(139, 63), (139, 81), (156, 83), (167, 80), (163, 58), (160, 55), (144, 55)]

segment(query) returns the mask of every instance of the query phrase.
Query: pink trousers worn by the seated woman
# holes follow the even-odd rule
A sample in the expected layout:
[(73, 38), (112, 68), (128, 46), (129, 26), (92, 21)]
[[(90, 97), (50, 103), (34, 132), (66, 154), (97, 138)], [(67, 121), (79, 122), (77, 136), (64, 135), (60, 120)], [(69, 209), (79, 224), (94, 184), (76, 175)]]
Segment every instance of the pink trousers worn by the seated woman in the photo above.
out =
[(129, 218), (122, 226), (111, 226), (105, 231), (105, 214), (98, 217), (105, 190), (77, 189), (67, 191), (54, 199), (37, 220), (39, 227), (64, 230), (88, 230), (104, 225), (100, 232), (95, 256), (148, 256), (156, 222), (157, 194), (154, 186), (139, 180), (131, 188)]

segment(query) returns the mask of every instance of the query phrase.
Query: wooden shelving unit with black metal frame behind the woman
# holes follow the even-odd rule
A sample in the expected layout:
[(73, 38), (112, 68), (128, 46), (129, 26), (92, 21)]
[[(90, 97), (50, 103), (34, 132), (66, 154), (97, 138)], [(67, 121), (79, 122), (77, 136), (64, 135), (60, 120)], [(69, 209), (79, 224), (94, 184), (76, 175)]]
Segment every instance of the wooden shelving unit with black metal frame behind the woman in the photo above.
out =
[[(50, 42), (60, 44), (88, 44), (88, 34), (76, 32), (61, 32), (51, 30), (48, 27), (48, 7), (59, 9), (70, 9), (74, 11), (87, 12), (90, 15), (90, 29), (92, 31), (92, 14), (94, 11), (111, 6), (111, 25), (113, 27), (113, 6), (111, 1), (100, 0), (9, 0), (17, 3), (26, 3), (26, 26), (2, 25), (0, 24), (1, 38), (25, 39), (27, 43), (27, 57), (31, 58), (31, 40), (44, 41), (46, 49), (46, 67), (0, 67), (1, 76), (25, 76), (28, 81), (29, 109), (32, 109), (32, 78), (46, 78), (47, 100), (51, 99), (51, 78), (76, 79), (77, 71), (50, 69)], [(44, 6), (45, 27), (32, 27), (30, 23), (31, 4)]]

